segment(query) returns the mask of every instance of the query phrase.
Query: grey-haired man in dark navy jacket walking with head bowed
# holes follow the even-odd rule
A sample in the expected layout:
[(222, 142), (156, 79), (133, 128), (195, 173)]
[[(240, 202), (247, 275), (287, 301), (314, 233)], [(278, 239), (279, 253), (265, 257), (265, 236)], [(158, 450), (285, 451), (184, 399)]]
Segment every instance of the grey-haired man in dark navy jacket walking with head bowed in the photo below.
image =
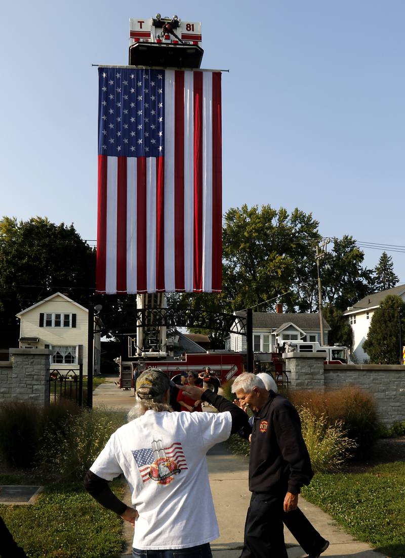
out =
[(317, 558), (329, 542), (298, 508), (301, 487), (314, 473), (295, 407), (248, 372), (236, 378), (232, 391), (255, 416), (249, 463), (252, 497), (240, 558), (287, 558), (283, 522), (309, 558)]

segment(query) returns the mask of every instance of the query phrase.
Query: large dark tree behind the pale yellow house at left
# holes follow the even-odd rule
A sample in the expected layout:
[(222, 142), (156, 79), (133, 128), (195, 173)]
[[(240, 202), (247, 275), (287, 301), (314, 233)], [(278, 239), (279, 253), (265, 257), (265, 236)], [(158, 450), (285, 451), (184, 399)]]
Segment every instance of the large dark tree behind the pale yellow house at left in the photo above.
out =
[(88, 306), (94, 276), (95, 251), (80, 238), (73, 225), (55, 225), (42, 217), (20, 222), (3, 217), (0, 220), (2, 345), (16, 346), (19, 330), (16, 313), (56, 291)]

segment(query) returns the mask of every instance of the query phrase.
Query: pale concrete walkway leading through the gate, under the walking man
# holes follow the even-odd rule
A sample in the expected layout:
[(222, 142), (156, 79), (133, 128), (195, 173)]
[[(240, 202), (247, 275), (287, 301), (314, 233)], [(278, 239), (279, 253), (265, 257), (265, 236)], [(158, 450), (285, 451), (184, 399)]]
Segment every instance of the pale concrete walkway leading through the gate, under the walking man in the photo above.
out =
[[(128, 411), (134, 402), (134, 392), (119, 389), (114, 381), (118, 378), (107, 378), (94, 391), (94, 407), (106, 406), (116, 410)], [(225, 445), (214, 446), (207, 455), (209, 483), (217, 513), (219, 532), (221, 535), (211, 543), (214, 558), (238, 558), (243, 543), (243, 526), (250, 500), (248, 490), (248, 459), (230, 454)], [(336, 487), (338, 490), (338, 487)], [(130, 504), (129, 490), (126, 503)], [(336, 525), (333, 519), (313, 504), (300, 497), (300, 508), (313, 523), (323, 537), (330, 541), (328, 550), (322, 556), (329, 558), (384, 558), (364, 542), (355, 541)], [(132, 529), (129, 523), (124, 525), (124, 537), (127, 546), (124, 550), (130, 556)], [(289, 558), (302, 558), (302, 551), (291, 533), (285, 530), (285, 542)]]

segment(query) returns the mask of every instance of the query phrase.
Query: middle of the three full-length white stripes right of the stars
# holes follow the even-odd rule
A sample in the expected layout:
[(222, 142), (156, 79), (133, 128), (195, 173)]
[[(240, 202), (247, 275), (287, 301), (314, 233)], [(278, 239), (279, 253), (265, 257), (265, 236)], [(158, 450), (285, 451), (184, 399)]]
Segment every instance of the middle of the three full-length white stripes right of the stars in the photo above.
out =
[(184, 288), (194, 288), (194, 77), (184, 72)]

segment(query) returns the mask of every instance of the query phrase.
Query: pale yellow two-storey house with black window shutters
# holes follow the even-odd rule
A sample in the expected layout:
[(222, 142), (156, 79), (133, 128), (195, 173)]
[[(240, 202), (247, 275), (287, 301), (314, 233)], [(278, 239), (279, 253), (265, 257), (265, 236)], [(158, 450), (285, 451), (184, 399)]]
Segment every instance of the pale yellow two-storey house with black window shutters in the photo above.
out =
[[(17, 314), (19, 347), (51, 349), (51, 369), (79, 369), (87, 374), (89, 310), (56, 292)], [(100, 320), (94, 319), (93, 373), (100, 373)]]

